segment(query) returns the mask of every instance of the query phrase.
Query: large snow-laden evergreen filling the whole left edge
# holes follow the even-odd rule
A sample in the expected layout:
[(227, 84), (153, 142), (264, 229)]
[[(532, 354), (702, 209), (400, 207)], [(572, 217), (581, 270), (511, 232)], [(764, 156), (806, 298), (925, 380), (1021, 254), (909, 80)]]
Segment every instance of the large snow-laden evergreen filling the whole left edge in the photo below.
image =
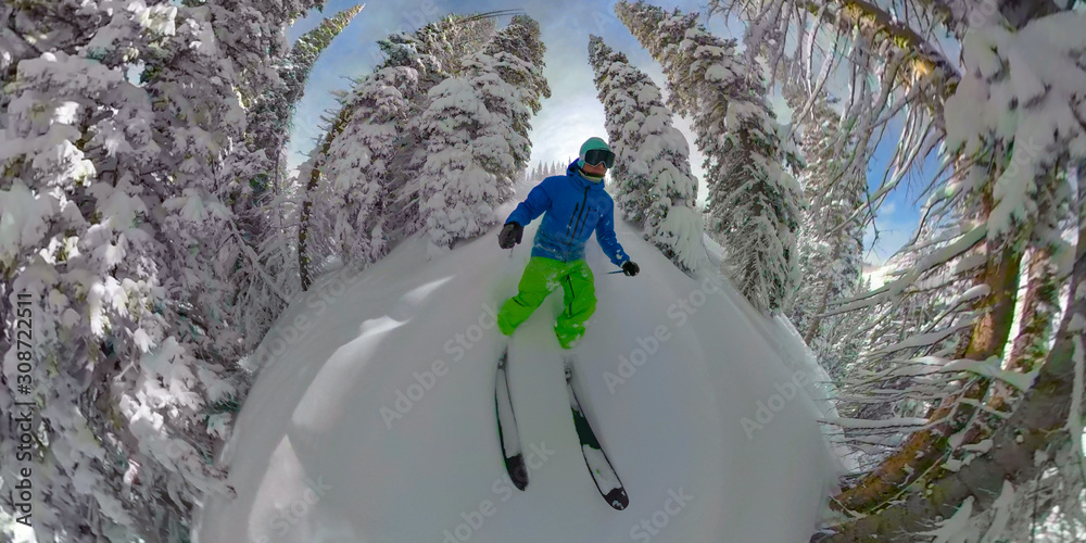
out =
[[(214, 457), (249, 330), (224, 278), (260, 267), (219, 195), (258, 173), (239, 89), (269, 63), (227, 29), (261, 13), (247, 23), (276, 35), (269, 22), (313, 4), (267, 3), (2, 8), (5, 39), (34, 43), (5, 87), (0, 215), (17, 226), (0, 230), (2, 318), (14, 330), (12, 303), (31, 301), (36, 364), (0, 408), (36, 406), (39, 541), (187, 540), (192, 505), (231, 492)], [(14, 367), (13, 338), (0, 350)]]

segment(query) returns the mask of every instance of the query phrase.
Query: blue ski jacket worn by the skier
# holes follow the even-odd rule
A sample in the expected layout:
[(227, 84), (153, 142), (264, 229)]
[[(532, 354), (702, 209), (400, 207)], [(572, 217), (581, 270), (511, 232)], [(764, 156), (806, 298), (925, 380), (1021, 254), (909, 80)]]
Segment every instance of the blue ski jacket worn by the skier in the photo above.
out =
[(528, 198), (509, 214), (506, 223), (527, 226), (543, 215), (535, 232), (532, 256), (563, 262), (584, 257), (584, 242), (596, 232), (596, 241), (616, 266), (630, 260), (615, 237), (615, 202), (604, 190), (604, 182), (581, 175), (573, 161), (566, 175), (543, 179)]

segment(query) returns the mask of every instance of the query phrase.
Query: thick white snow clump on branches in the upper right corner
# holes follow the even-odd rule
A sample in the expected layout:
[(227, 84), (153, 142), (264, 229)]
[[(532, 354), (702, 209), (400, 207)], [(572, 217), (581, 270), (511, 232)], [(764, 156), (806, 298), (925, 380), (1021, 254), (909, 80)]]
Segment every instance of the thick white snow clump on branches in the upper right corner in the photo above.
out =
[(992, 239), (1038, 222), (1043, 184), (1060, 182), (1061, 199), (1071, 198), (1051, 171), (1086, 159), (1084, 27), (1086, 14), (1060, 13), (1018, 31), (993, 25), (965, 34), (967, 70), (947, 100), (947, 147), (980, 162), (956, 192), (983, 193), (993, 184)]

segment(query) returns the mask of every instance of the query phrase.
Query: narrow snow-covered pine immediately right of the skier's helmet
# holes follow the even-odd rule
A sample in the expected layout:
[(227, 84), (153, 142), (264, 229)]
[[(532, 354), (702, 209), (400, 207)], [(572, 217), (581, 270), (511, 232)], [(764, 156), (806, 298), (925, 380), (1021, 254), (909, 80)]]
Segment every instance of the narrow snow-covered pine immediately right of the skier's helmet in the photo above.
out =
[(616, 201), (680, 269), (691, 273), (705, 257), (704, 223), (694, 209), (697, 179), (690, 171), (686, 139), (672, 126), (659, 87), (631, 66), (626, 54), (597, 36), (589, 38), (589, 61), (604, 104), (618, 181)]

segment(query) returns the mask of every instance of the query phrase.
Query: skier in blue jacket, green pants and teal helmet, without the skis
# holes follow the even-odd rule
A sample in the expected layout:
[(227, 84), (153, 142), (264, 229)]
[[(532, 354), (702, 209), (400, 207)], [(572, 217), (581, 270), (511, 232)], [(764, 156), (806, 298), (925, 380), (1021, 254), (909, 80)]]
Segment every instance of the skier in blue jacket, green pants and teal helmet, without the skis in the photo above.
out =
[(599, 247), (623, 274), (635, 276), (641, 270), (615, 238), (615, 203), (603, 182), (614, 165), (615, 153), (607, 143), (589, 138), (566, 175), (543, 179), (505, 220), (497, 244), (510, 249), (520, 243), (525, 225), (543, 215), (517, 295), (506, 300), (497, 314), (502, 333), (512, 336), (560, 285), (564, 310), (554, 326), (558, 343), (571, 349), (584, 334), (584, 324), (596, 308), (592, 270), (584, 262), (584, 242), (593, 230)]

